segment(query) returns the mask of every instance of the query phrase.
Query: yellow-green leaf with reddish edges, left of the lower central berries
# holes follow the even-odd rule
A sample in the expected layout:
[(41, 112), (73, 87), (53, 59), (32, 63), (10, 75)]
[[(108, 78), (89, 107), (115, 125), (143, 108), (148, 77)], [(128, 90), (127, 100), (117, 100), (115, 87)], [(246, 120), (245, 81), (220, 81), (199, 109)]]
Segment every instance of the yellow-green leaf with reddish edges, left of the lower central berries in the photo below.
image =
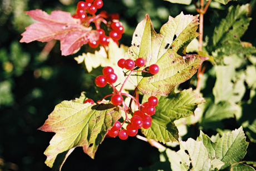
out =
[[(58, 154), (66, 152), (69, 155), (68, 150), (76, 147), (82, 147), (83, 152), (94, 158), (107, 129), (119, 118), (119, 110), (108, 101), (93, 105), (63, 101), (56, 105), (45, 124), (38, 128), (56, 133), (45, 150), (45, 163), (52, 167)], [(66, 154), (62, 154), (60, 158), (66, 157)], [(61, 164), (60, 161), (57, 163)]]

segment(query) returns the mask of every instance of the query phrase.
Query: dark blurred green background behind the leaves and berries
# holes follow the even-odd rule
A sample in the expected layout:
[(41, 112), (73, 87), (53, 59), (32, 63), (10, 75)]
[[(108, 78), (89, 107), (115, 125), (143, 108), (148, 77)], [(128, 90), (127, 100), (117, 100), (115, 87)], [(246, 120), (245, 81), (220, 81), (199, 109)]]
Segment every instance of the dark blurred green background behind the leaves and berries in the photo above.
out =
[[(37, 130), (56, 104), (78, 97), (86, 90), (85, 69), (73, 57), (86, 52), (86, 46), (73, 56), (61, 56), (60, 42), (48, 53), (46, 43), (19, 43), (24, 28), (34, 21), (24, 11), (42, 9), (75, 13), (75, 0), (0, 1), (0, 170), (51, 170), (43, 154), (54, 133)], [(227, 14), (233, 4), (252, 4), (253, 20), (243, 36), (256, 46), (255, 1), (237, 1), (221, 6), (211, 3), (205, 14), (205, 33), (211, 34), (214, 22)], [(125, 33), (121, 44), (130, 46), (134, 29), (148, 13), (155, 30), (168, 16), (197, 14), (193, 5), (171, 4), (162, 0), (104, 1), (102, 10), (119, 13)], [(216, 24), (216, 23), (215, 23)], [(253, 35), (253, 36), (252, 36)], [(55, 42), (52, 42), (53, 45)], [(48, 44), (49, 45), (49, 44)], [(50, 43), (51, 45), (51, 43)], [(136, 138), (122, 141), (105, 139), (91, 159), (76, 148), (62, 170), (141, 170), (159, 161), (158, 150)]]

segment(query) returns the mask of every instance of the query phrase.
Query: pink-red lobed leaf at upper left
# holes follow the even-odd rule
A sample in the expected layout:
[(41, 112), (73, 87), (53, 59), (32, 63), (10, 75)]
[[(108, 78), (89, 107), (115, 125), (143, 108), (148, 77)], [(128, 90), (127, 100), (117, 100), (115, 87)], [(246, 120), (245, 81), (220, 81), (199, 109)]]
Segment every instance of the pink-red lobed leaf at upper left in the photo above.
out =
[(89, 40), (94, 41), (99, 38), (97, 32), (82, 26), (80, 20), (73, 18), (68, 12), (52, 11), (49, 15), (41, 9), (35, 9), (26, 13), (38, 23), (28, 26), (21, 34), (23, 37), (19, 42), (49, 42), (57, 39), (61, 42), (62, 55), (67, 56)]

